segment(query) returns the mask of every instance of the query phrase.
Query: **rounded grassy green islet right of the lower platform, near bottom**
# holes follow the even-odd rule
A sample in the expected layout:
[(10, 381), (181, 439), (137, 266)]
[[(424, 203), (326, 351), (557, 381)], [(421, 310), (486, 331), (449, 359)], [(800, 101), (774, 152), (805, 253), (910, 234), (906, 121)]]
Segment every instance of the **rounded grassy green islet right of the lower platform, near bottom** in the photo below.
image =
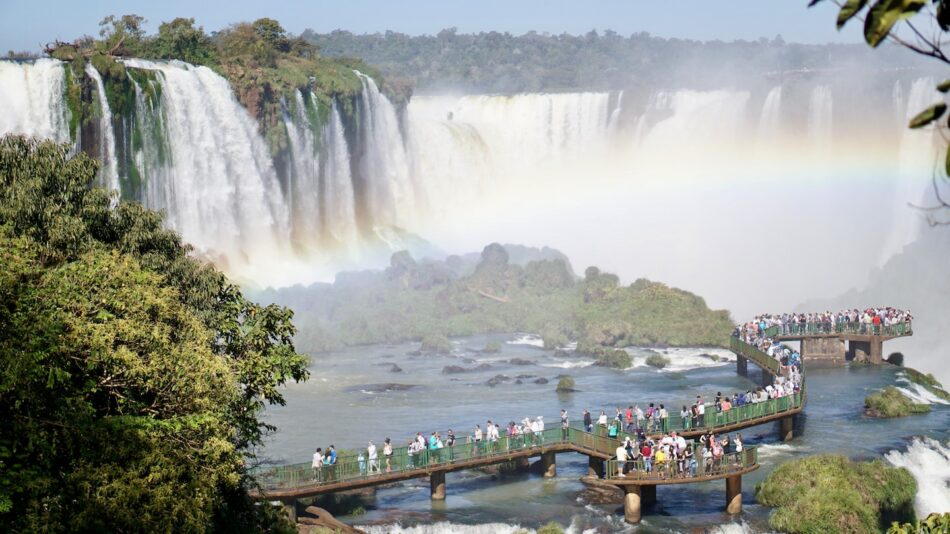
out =
[(882, 460), (823, 454), (779, 465), (755, 491), (759, 503), (778, 507), (769, 517), (778, 531), (858, 534), (912, 521), (917, 483), (906, 469)]

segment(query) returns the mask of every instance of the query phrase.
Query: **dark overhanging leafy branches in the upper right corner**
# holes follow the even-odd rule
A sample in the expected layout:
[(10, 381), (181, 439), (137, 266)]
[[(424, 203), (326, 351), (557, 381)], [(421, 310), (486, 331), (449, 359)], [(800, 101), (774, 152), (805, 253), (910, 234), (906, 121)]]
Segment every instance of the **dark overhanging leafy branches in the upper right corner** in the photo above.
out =
[[(811, 0), (812, 7), (824, 0)], [(950, 32), (950, 0), (833, 0), (839, 7), (837, 26), (840, 30), (852, 20), (864, 23), (864, 39), (871, 47), (890, 41), (915, 54), (933, 58), (950, 66), (950, 58), (943, 51), (943, 40)], [(921, 24), (923, 22), (923, 24)], [(922, 30), (921, 28), (929, 28)], [(950, 79), (937, 84), (941, 93), (950, 91)], [(932, 104), (910, 120), (910, 128), (933, 125), (950, 145), (950, 122), (939, 121), (947, 111), (945, 101)], [(950, 197), (945, 189), (950, 182), (950, 146), (945, 149), (942, 169), (934, 169), (933, 191), (936, 205), (922, 206), (931, 225), (947, 225), (950, 219)]]

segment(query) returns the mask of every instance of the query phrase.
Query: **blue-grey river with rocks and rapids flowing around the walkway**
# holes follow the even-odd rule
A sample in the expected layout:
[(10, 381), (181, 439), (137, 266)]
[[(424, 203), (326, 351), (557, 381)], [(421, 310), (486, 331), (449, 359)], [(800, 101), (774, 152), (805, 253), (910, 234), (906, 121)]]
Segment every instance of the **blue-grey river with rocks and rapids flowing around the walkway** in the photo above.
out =
[[(482, 352), (489, 341), (501, 342), (502, 351)], [(596, 419), (600, 410), (612, 415), (616, 406), (634, 402), (642, 407), (664, 403), (678, 413), (698, 393), (710, 398), (717, 391), (744, 391), (757, 378), (751, 365), (750, 378), (738, 376), (735, 356), (722, 349), (669, 349), (672, 365), (657, 370), (645, 364), (648, 351), (633, 348), (633, 367), (621, 371), (592, 366), (581, 357), (555, 356), (539, 344), (533, 336), (499, 334), (455, 339), (446, 355), (412, 354), (418, 343), (314, 355), (310, 380), (287, 386), (287, 405), (268, 409), (266, 419), (278, 431), (262, 456), (278, 463), (305, 462), (317, 446), (350, 449), (365, 447), (368, 439), (380, 444), (385, 437), (402, 446), (417, 431), (444, 435), (452, 428), (468, 434), (488, 419), (504, 427), (510, 420), (542, 415), (550, 427), (557, 424), (561, 408), (574, 419), (585, 408)], [(513, 359), (531, 363), (511, 363)], [(913, 363), (912, 355), (908, 363)], [(472, 369), (481, 364), (489, 367), (443, 373), (450, 365)], [(394, 372), (394, 366), (400, 371)], [(557, 393), (561, 374), (571, 375), (578, 391)], [(489, 386), (497, 375), (508, 380)], [(521, 383), (516, 383), (518, 377)], [(535, 383), (538, 378), (548, 382)], [(620, 504), (586, 501), (579, 478), (586, 474), (587, 459), (568, 453), (558, 455), (555, 479), (531, 473), (450, 473), (444, 502), (430, 500), (426, 479), (411, 480), (377, 491), (366, 501), (364, 514), (340, 519), (371, 532), (419, 534), (514, 532), (549, 521), (570, 525), (572, 532), (765, 532), (770, 509), (755, 504), (755, 484), (779, 463), (819, 452), (852, 458), (887, 455), (928, 488), (918, 496), (918, 514), (950, 510), (950, 406), (935, 403), (927, 415), (901, 419), (862, 416), (869, 392), (905, 385), (900, 369), (888, 365), (813, 368), (807, 381), (808, 405), (796, 420), (794, 440), (778, 441), (777, 423), (743, 432), (747, 444), (760, 446), (762, 468), (743, 478), (741, 517), (725, 514), (725, 484), (716, 481), (659, 487), (655, 507), (645, 509), (642, 523), (631, 527), (623, 522)]]

